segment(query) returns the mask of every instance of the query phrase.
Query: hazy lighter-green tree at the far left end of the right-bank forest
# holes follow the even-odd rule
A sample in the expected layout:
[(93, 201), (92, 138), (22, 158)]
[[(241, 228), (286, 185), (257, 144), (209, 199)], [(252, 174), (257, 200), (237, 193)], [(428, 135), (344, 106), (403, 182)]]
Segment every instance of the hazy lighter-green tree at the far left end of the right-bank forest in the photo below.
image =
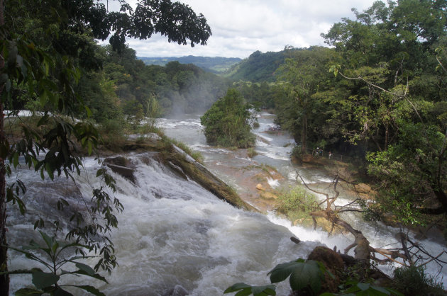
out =
[(292, 132), (302, 154), (307, 153), (309, 138), (313, 143), (319, 142), (326, 128), (327, 104), (319, 93), (328, 87), (327, 69), (333, 53), (325, 47), (293, 50), (277, 70), (278, 84), (284, 93), (275, 102), (277, 122)]

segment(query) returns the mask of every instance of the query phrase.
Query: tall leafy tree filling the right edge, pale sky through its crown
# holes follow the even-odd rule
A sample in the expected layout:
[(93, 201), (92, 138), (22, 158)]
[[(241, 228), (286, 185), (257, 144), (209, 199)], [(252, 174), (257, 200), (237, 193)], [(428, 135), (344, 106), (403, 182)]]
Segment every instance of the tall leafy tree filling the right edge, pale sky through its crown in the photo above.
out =
[(345, 135), (365, 143), (377, 205), (404, 224), (447, 212), (446, 8), (377, 1), (323, 35), (343, 58), (331, 70), (345, 93), (334, 106), (351, 113)]

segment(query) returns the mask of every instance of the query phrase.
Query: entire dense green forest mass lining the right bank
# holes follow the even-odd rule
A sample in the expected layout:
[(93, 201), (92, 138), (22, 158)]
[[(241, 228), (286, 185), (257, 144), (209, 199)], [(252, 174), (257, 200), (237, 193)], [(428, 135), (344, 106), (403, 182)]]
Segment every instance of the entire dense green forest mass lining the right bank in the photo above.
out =
[(277, 70), (277, 122), (296, 151), (365, 159), (375, 214), (403, 223), (447, 212), (446, 9), (376, 1), (322, 34), (333, 48), (291, 51)]

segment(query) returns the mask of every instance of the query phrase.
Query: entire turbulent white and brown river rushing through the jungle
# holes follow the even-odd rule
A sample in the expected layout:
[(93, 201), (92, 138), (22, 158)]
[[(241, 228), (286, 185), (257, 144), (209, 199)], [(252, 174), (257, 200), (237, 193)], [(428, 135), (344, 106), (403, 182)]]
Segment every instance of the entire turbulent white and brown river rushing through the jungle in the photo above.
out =
[[(295, 168), (289, 161), (293, 140), (287, 134), (265, 133), (273, 126), (273, 116), (259, 115), (260, 127), (255, 129), (258, 141), (253, 159), (227, 149), (216, 149), (206, 144), (198, 116), (182, 119), (162, 119), (159, 124), (165, 133), (188, 144), (204, 156), (210, 171), (243, 193), (238, 176), (228, 174), (231, 169), (250, 165), (269, 164), (285, 176), (283, 182), (294, 183), (297, 172), (309, 183), (330, 182), (330, 176), (321, 171)], [(117, 197), (124, 211), (118, 215), (118, 226), (112, 234), (119, 266), (109, 276), (109, 284), (92, 283), (106, 295), (172, 295), (186, 290), (189, 295), (222, 295), (233, 283), (253, 285), (269, 283), (268, 271), (278, 263), (305, 258), (315, 246), (324, 244), (344, 249), (352, 243), (350, 235), (331, 236), (321, 230), (291, 226), (290, 222), (276, 217), (238, 210), (217, 199), (193, 181), (178, 178), (157, 161), (142, 161), (141, 154), (128, 156), (136, 166), (136, 185), (112, 173), (117, 181)], [(52, 214), (56, 198), (86, 199), (90, 186), (99, 186), (94, 178), (99, 168), (94, 159), (86, 159), (85, 171), (77, 178), (77, 188), (65, 178), (42, 182), (40, 177), (20, 169), (14, 178), (21, 178), (28, 186), (26, 196), (28, 213), (9, 212), (9, 244), (21, 246), (35, 237), (35, 215), (55, 220)], [(277, 186), (277, 181), (271, 181)], [(82, 207), (84, 205), (79, 205)], [(375, 247), (392, 246), (397, 241), (394, 233), (399, 229), (370, 226), (357, 217), (346, 217), (360, 229)], [(290, 237), (298, 237), (294, 244)], [(431, 254), (439, 254), (443, 244), (434, 239), (421, 241)], [(91, 263), (93, 265), (93, 261)], [(10, 269), (30, 268), (24, 256), (11, 253)], [(393, 266), (385, 268), (391, 271)], [(429, 266), (429, 272), (438, 274), (438, 266)], [(441, 273), (439, 276), (442, 276)], [(447, 277), (446, 277), (447, 278)], [(70, 283), (84, 285), (84, 278), (71, 278)], [(31, 282), (28, 275), (11, 276), (11, 292)], [(287, 295), (287, 283), (278, 285), (277, 295)]]

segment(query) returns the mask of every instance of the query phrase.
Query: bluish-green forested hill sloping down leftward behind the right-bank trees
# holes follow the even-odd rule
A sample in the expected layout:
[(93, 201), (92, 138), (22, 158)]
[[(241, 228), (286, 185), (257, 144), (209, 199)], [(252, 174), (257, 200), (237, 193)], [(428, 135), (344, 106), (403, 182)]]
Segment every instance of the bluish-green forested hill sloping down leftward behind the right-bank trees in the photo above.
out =
[(285, 51), (280, 52), (253, 52), (250, 57), (233, 65), (225, 76), (239, 81), (275, 81), (275, 71), (285, 61)]

